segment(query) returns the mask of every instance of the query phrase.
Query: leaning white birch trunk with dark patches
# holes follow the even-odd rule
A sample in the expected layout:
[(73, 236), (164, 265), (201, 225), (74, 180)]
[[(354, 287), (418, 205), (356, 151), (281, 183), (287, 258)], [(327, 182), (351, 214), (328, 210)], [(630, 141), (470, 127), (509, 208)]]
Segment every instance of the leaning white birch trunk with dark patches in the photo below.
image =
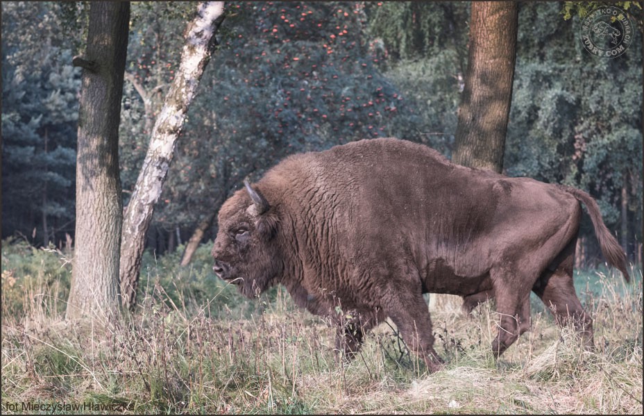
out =
[(223, 2), (200, 3), (189, 24), (181, 63), (153, 127), (150, 147), (124, 217), (121, 245), (121, 303), (136, 305), (141, 257), (145, 235), (152, 220), (163, 183), (174, 154), (175, 143), (183, 128), (189, 104), (215, 46), (214, 34), (223, 22)]

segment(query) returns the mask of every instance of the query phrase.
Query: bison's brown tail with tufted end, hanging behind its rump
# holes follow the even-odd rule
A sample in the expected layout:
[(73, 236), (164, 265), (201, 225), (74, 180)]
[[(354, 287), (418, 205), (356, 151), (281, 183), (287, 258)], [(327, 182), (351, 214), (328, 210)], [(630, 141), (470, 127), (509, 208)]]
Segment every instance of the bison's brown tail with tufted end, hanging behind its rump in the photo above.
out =
[(591, 216), (593, 227), (595, 227), (595, 235), (597, 235), (597, 240), (600, 242), (600, 247), (602, 249), (602, 253), (604, 253), (604, 257), (608, 260), (610, 265), (617, 267), (620, 272), (622, 272), (626, 281), (630, 281), (630, 276), (627, 272), (626, 253), (617, 242), (616, 238), (613, 237), (609, 229), (606, 228), (604, 220), (602, 219), (600, 207), (597, 205), (595, 199), (582, 190), (563, 185), (559, 185), (559, 188), (572, 194), (573, 197), (584, 203), (588, 209), (588, 215)]

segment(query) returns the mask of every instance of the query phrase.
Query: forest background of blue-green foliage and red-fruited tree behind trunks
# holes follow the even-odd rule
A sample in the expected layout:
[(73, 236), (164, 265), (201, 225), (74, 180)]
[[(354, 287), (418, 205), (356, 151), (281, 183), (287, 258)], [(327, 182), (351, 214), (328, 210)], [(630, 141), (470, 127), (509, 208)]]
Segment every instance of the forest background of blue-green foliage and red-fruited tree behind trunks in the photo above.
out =
[[(201, 241), (212, 240), (217, 210), (242, 179), (291, 153), (395, 136), (450, 156), (468, 3), (227, 7), (155, 207), (149, 251), (173, 252), (200, 226)], [(133, 3), (119, 134), (124, 206), (193, 9)], [(504, 172), (590, 192), (630, 260), (641, 263), (641, 36), (622, 56), (599, 59), (584, 50), (579, 18), (570, 17), (562, 3), (519, 6)], [(3, 2), (3, 239), (58, 248), (74, 241), (80, 69), (71, 57), (86, 18), (69, 4)], [(577, 263), (600, 261), (584, 219)]]

